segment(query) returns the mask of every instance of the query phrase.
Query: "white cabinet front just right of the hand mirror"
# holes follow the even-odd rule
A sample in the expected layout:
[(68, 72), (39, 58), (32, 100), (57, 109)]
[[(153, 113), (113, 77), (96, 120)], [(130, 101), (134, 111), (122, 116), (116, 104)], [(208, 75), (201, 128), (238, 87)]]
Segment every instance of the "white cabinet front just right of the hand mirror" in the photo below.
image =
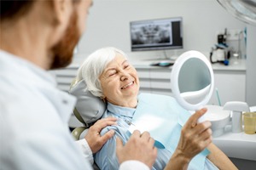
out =
[[(221, 105), (228, 101), (245, 102), (245, 71), (214, 71), (214, 81), (214, 91), (209, 105), (218, 105), (218, 96)], [(218, 96), (216, 88), (218, 88)]]

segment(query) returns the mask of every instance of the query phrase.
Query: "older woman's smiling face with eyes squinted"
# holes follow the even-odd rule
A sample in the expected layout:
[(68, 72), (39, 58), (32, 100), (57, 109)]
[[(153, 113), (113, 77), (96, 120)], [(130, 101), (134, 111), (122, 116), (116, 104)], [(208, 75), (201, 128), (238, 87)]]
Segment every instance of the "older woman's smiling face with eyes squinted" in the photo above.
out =
[(135, 68), (121, 54), (108, 63), (100, 76), (104, 97), (113, 105), (136, 107), (139, 79)]

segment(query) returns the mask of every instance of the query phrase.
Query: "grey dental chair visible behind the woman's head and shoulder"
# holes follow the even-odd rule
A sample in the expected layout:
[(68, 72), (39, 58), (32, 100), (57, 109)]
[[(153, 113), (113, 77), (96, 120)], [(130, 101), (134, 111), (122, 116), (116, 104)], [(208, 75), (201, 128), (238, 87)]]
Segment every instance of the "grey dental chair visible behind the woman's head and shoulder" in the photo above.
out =
[[(103, 113), (106, 111), (107, 105), (102, 99), (94, 96), (86, 90), (86, 83), (84, 80), (77, 82), (73, 80), (71, 83), (69, 94), (77, 98), (77, 104), (73, 110), (73, 114), (83, 123), (83, 127), (76, 127), (72, 131), (75, 140), (84, 139), (85, 134), (90, 126), (92, 126)], [(100, 168), (94, 163), (93, 168), (99, 170)]]

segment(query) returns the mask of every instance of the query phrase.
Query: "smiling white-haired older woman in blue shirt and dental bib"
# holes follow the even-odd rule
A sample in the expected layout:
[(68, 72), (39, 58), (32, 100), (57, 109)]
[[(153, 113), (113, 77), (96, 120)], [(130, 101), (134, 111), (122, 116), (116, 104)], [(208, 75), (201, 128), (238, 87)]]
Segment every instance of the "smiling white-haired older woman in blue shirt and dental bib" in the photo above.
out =
[[(118, 118), (117, 125), (106, 127), (101, 132), (104, 134), (110, 129), (115, 131), (114, 137), (109, 139), (96, 153), (95, 161), (101, 169), (118, 169), (119, 161), (115, 148), (119, 139), (126, 143), (131, 135), (132, 122), (142, 116), (153, 116), (154, 113), (159, 116), (154, 124), (158, 124), (155, 128), (160, 135), (156, 133), (152, 136), (157, 138), (155, 145), (158, 147), (158, 156), (153, 169), (164, 169), (166, 165), (168, 168), (175, 166), (170, 163), (172, 159), (182, 159), (185, 162), (183, 167), (188, 166), (189, 169), (236, 169), (229, 158), (211, 143), (210, 122), (198, 124), (187, 122), (183, 126), (190, 115), (177, 104), (175, 99), (156, 94), (138, 95), (137, 71), (121, 50), (101, 48), (90, 54), (80, 66), (77, 79), (78, 81), (84, 79), (87, 83), (87, 90), (107, 102), (107, 111), (102, 117)], [(182, 114), (179, 114), (181, 112)], [(206, 110), (201, 112), (206, 112)], [(165, 122), (165, 119), (169, 122), (161, 124), (160, 122)], [(183, 123), (179, 123), (180, 121)], [(143, 123), (138, 123), (136, 126), (142, 127)], [(163, 129), (165, 130), (161, 131)], [(155, 133), (154, 130), (154, 128), (152, 131), (149, 129), (149, 133)], [(161, 135), (170, 139), (170, 142), (167, 140), (166, 143), (166, 139), (161, 139)], [(201, 151), (206, 147), (210, 153), (208, 150)], [(196, 151), (193, 152), (192, 149)], [(179, 158), (176, 159), (178, 156)]]

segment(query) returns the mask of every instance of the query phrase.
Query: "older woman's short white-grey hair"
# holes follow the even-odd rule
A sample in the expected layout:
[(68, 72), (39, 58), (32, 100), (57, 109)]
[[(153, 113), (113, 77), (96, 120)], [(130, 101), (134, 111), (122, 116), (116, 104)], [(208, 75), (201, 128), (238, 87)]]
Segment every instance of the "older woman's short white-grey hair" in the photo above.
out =
[(94, 53), (90, 54), (84, 63), (80, 65), (76, 82), (85, 81), (87, 88), (91, 94), (96, 97), (103, 97), (102, 85), (99, 77), (106, 69), (109, 62), (111, 62), (117, 54), (121, 54), (127, 59), (127, 55), (118, 48), (108, 47), (100, 48)]

